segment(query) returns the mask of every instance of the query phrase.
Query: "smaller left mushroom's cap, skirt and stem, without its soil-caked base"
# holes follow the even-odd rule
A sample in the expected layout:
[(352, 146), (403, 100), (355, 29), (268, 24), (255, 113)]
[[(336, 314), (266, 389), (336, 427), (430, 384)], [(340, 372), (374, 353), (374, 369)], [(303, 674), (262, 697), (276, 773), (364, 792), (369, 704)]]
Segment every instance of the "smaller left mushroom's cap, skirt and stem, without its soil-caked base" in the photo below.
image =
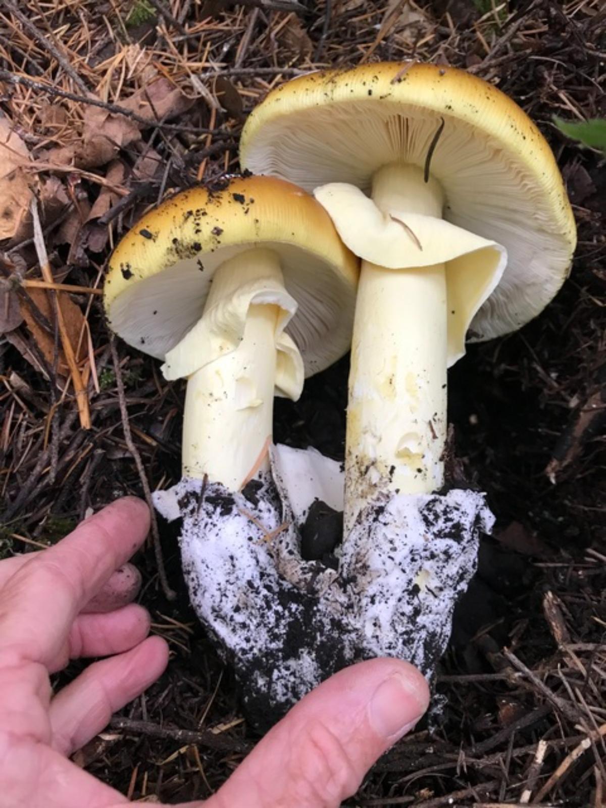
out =
[(281, 179), (183, 191), (122, 239), (107, 318), (187, 378), (184, 478), (237, 491), (267, 471), (274, 393), (296, 400), (347, 351), (356, 280), (322, 207)]

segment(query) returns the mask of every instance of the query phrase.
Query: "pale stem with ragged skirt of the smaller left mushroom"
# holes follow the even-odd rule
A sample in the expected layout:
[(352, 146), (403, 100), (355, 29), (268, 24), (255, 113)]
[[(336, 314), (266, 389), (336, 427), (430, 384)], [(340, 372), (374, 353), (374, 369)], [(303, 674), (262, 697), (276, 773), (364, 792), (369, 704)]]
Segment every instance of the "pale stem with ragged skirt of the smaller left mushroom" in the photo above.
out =
[(215, 272), (200, 321), (166, 355), (168, 379), (187, 376), (183, 477), (238, 490), (268, 469), (273, 399), (297, 399), (303, 361), (284, 333), (297, 303), (284, 289), (280, 259), (251, 249)]

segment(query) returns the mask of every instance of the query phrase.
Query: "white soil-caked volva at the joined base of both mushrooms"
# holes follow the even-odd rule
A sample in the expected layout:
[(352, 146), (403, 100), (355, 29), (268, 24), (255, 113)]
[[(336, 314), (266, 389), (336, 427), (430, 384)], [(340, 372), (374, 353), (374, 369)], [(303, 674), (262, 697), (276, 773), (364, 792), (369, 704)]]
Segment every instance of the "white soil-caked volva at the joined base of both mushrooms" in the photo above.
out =
[(186, 478), (154, 503), (183, 519), (191, 604), (259, 724), (360, 659), (406, 659), (431, 677), (475, 571), (479, 533), (494, 521), (474, 491), (381, 495), (360, 512), (337, 572), (301, 559), (270, 473), (238, 494)]

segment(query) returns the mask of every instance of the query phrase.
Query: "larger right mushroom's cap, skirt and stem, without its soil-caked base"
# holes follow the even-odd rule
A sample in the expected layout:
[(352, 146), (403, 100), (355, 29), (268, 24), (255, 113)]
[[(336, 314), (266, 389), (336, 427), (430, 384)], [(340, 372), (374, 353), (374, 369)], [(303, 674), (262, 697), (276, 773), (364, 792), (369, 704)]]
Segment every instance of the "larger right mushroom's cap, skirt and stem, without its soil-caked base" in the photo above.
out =
[(378, 491), (444, 485), (447, 367), (566, 278), (574, 219), (549, 145), (494, 86), (439, 65), (308, 74), (246, 121), (242, 166), (314, 191), (362, 271), (345, 532)]

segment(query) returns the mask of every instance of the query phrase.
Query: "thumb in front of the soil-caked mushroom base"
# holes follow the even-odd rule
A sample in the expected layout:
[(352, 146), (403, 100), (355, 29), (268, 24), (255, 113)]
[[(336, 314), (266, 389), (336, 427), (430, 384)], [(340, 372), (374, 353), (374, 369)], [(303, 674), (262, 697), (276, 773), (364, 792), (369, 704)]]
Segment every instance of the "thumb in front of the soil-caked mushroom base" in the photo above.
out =
[(372, 659), (340, 671), (270, 730), (205, 808), (330, 808), (427, 709), (414, 667)]

